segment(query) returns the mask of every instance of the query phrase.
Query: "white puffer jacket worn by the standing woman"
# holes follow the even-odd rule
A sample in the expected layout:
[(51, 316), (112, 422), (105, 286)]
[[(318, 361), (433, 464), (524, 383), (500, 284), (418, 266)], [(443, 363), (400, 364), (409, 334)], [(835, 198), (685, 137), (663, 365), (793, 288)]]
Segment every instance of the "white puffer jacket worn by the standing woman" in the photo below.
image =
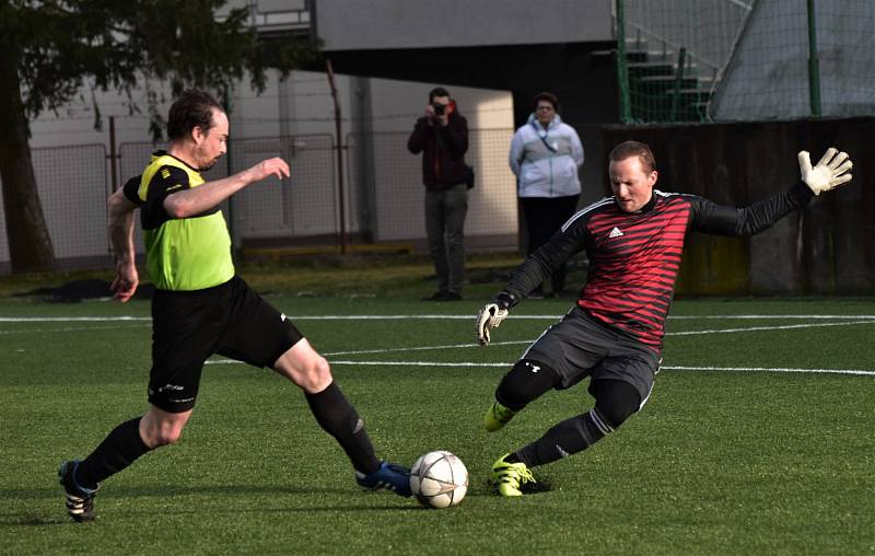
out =
[(511, 170), (520, 197), (565, 197), (581, 193), (578, 170), (583, 165), (583, 144), (574, 128), (557, 114), (544, 126), (532, 114), (511, 141)]

